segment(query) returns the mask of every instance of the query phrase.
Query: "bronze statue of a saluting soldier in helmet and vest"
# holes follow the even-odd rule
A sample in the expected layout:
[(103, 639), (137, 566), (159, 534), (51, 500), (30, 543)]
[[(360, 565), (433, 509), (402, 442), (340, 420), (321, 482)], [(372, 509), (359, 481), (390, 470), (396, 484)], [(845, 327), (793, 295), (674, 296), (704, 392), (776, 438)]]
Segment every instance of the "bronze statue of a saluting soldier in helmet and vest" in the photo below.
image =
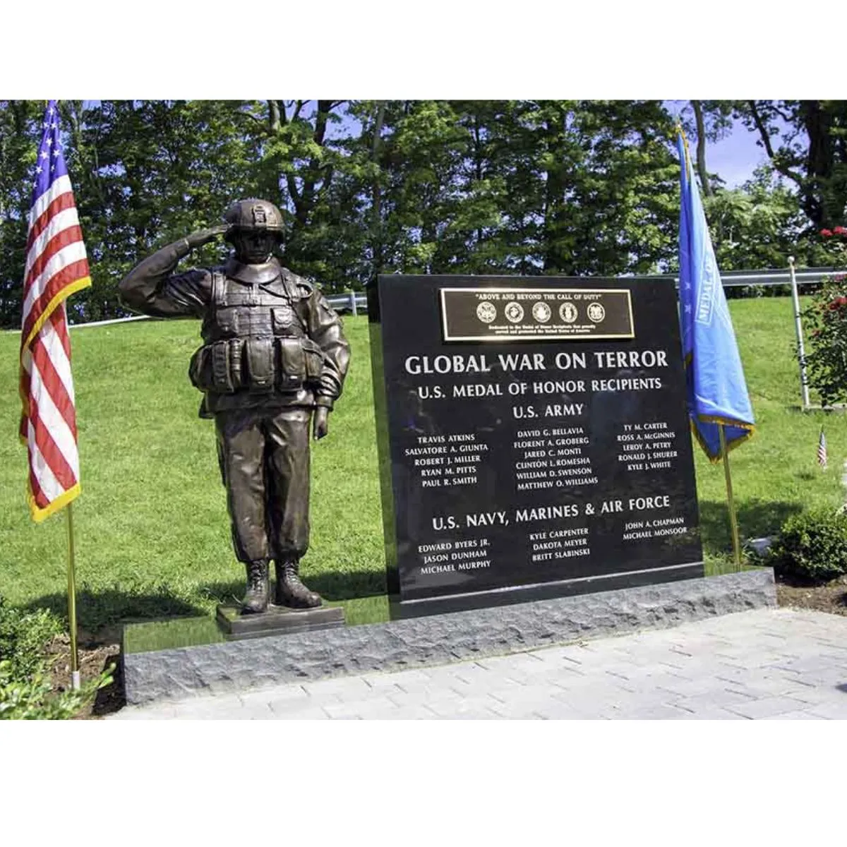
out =
[[(204, 393), (201, 417), (215, 421), (235, 556), (247, 572), (244, 613), (268, 608), (271, 559), (277, 605), (321, 605), (299, 576), (309, 540), (309, 421), (316, 440), (327, 434), (350, 361), (338, 315), (274, 257), (282, 234), (273, 203), (241, 200), (224, 224), (163, 247), (120, 283), (137, 312), (202, 318), (189, 377)], [(224, 265), (174, 273), (219, 235), (235, 248)]]

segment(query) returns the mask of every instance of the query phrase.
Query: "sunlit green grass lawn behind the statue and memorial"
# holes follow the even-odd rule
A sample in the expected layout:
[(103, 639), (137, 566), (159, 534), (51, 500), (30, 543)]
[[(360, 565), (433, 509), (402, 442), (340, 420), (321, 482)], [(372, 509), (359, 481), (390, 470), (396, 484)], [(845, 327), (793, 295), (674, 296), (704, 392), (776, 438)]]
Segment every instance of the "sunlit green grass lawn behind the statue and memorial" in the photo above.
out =
[[(772, 533), (791, 512), (843, 500), (843, 415), (799, 411), (789, 298), (732, 301), (758, 431), (732, 454), (741, 533)], [(385, 619), (384, 557), (374, 441), (367, 318), (346, 318), (352, 366), (313, 446), (308, 584), (343, 602), (347, 620)], [(195, 321), (73, 330), (83, 493), (74, 504), (80, 626), (212, 613), (243, 590), (230, 547), (213, 422), (197, 417), (186, 372), (198, 345)], [(26, 454), (16, 438), (18, 345), (0, 333), (0, 594), (20, 605), (65, 610), (64, 515), (32, 523), (25, 504)], [(827, 425), (830, 466), (815, 462)], [(720, 466), (697, 456), (707, 561), (720, 570), (730, 540)]]

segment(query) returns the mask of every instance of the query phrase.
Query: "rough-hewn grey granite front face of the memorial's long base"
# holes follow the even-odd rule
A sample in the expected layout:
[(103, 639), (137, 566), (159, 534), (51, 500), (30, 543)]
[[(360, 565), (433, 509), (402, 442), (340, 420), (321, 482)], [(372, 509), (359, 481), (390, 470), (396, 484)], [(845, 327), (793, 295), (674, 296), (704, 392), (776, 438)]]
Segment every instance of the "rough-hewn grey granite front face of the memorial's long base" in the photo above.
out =
[(770, 568), (390, 623), (125, 654), (130, 704), (444, 665), (775, 607)]

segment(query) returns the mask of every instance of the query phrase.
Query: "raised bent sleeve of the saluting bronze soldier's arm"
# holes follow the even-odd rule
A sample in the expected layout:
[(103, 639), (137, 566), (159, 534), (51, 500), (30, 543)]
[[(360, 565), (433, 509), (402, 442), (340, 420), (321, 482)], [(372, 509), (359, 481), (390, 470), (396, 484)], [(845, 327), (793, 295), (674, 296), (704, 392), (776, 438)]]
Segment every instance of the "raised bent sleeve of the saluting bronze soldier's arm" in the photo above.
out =
[(153, 318), (201, 318), (211, 299), (212, 274), (204, 268), (174, 274), (189, 252), (188, 242), (182, 238), (132, 268), (119, 285), (125, 306)]

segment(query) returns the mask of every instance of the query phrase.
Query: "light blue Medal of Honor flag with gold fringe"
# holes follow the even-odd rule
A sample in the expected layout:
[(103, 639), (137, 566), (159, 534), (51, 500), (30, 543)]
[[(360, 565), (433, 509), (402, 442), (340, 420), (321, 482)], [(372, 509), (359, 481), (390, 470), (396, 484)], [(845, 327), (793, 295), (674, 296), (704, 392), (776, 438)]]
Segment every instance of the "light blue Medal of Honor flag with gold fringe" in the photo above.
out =
[(753, 435), (754, 418), (706, 214), (680, 131), (679, 323), (691, 429), (712, 462), (722, 458), (717, 424), (727, 450)]

